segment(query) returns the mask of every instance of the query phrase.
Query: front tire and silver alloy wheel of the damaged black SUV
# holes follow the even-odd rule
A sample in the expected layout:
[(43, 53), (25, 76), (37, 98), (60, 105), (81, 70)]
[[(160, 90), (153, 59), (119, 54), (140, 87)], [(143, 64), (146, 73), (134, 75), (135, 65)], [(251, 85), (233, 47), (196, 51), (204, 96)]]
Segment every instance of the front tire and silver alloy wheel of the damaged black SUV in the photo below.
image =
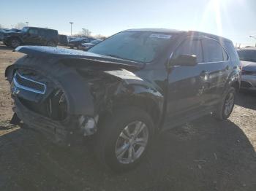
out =
[(143, 160), (153, 135), (154, 124), (146, 112), (120, 109), (100, 124), (94, 152), (105, 167), (128, 171)]

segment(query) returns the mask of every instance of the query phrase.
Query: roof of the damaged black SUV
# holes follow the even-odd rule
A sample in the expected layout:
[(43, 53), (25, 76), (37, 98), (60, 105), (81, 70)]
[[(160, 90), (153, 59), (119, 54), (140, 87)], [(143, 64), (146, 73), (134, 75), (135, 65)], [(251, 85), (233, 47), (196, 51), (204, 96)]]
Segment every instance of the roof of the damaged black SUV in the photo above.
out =
[(141, 31), (141, 32), (156, 32), (156, 33), (170, 33), (170, 34), (193, 34), (195, 36), (206, 36), (208, 38), (216, 39), (218, 41), (226, 41), (231, 42), (230, 39), (226, 39), (222, 36), (217, 36), (214, 34), (208, 34), (200, 31), (178, 31), (175, 29), (167, 29), (167, 28), (135, 28), (135, 29), (128, 29), (125, 31)]

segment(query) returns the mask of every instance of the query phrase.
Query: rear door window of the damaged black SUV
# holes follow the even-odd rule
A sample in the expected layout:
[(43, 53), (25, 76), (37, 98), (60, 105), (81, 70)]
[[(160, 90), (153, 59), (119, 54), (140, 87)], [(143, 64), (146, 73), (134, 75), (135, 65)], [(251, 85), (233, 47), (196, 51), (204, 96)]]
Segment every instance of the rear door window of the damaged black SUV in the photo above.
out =
[(221, 62), (227, 61), (227, 52), (215, 40), (203, 39), (203, 62)]

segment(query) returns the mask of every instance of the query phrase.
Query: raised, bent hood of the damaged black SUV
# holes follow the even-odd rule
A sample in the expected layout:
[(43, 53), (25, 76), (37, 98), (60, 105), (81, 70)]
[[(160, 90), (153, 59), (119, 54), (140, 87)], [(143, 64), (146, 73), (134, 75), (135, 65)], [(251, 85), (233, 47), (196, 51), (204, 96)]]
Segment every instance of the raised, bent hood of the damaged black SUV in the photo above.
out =
[(59, 60), (65, 59), (78, 59), (84, 61), (84, 64), (88, 63), (86, 61), (94, 61), (95, 63), (106, 63), (114, 65), (132, 66), (138, 69), (142, 69), (144, 64), (134, 61), (127, 61), (119, 58), (114, 58), (107, 55), (99, 55), (91, 52), (84, 52), (81, 50), (72, 50), (60, 47), (44, 47), (44, 46), (20, 46), (15, 49), (17, 52), (22, 52), (26, 55), (31, 55), (34, 57), (53, 57), (59, 58)]

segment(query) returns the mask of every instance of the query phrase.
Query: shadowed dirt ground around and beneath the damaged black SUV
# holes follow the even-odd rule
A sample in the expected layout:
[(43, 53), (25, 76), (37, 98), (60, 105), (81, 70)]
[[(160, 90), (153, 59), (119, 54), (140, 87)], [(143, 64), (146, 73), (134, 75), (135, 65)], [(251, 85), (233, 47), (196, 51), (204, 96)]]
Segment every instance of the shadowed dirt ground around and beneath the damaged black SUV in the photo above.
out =
[(157, 137), (135, 171), (102, 171), (88, 147), (63, 148), (9, 124), (4, 69), (21, 54), (0, 44), (0, 190), (256, 190), (256, 95), (241, 93), (229, 120), (212, 117)]

